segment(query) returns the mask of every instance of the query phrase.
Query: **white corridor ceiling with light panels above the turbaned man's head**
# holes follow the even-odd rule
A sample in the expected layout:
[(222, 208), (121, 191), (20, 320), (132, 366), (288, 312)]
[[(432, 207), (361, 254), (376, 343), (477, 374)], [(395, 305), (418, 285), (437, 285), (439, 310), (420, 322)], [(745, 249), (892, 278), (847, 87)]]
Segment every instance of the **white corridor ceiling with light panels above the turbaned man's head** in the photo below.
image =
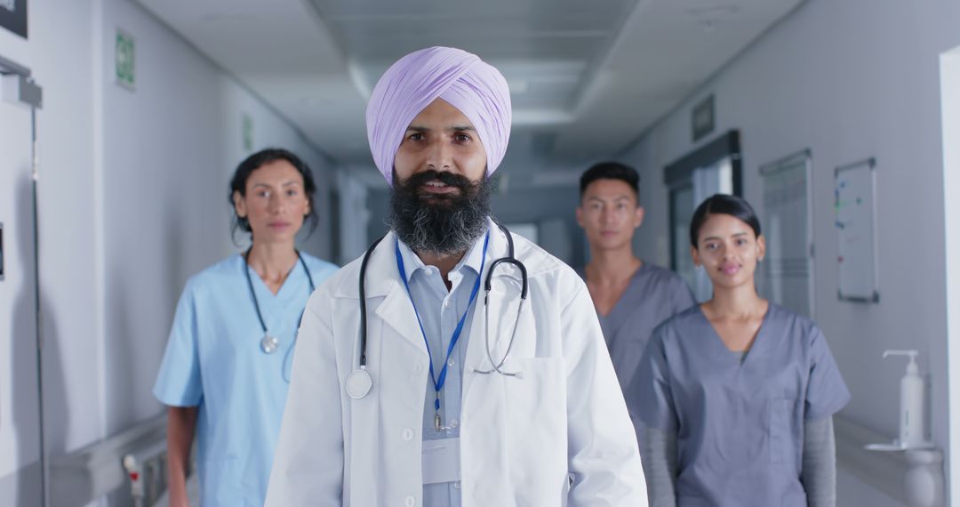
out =
[(347, 165), (372, 164), (364, 110), (390, 63), (432, 45), (476, 53), (511, 86), (504, 164), (527, 180), (623, 150), (803, 2), (137, 1)]

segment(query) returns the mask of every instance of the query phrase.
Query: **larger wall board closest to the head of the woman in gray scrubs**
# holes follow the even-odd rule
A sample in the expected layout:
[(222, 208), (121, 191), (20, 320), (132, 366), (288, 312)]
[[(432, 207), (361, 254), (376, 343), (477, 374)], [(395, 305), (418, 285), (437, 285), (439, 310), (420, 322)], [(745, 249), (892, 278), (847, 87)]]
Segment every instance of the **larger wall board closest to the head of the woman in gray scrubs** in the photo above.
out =
[(760, 166), (767, 254), (759, 274), (765, 298), (812, 319), (811, 169), (809, 150)]

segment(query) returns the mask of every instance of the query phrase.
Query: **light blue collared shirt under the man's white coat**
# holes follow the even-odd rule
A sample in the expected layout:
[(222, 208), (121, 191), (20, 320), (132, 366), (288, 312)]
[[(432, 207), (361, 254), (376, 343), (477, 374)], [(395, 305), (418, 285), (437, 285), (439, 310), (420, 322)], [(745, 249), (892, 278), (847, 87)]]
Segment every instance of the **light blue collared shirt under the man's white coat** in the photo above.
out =
[[(410, 286), (410, 295), (417, 305), (423, 332), (426, 333), (427, 343), (430, 346), (433, 371), (439, 379), (444, 368), (446, 350), (450, 344), (454, 329), (465, 311), (469, 311), (464, 329), (461, 331), (457, 345), (450, 353), (447, 361), (446, 380), (444, 389), (440, 393), (440, 415), (444, 429), (439, 432), (434, 426), (434, 401), (437, 391), (433, 382), (427, 380), (426, 396), (423, 403), (423, 440), (440, 440), (460, 437), (460, 411), (464, 377), (464, 360), (467, 357), (467, 343), (469, 339), (470, 322), (473, 320), (474, 303), (468, 308), (470, 292), (473, 284), (480, 276), (483, 267), (483, 244), (481, 236), (460, 262), (450, 270), (447, 278), (450, 280), (450, 290), (447, 291), (444, 278), (435, 266), (423, 264), (420, 257), (414, 254), (409, 247), (399, 242), (400, 256), (403, 259), (403, 269), (407, 273), (407, 283)], [(483, 295), (477, 293), (476, 300)], [(427, 484), (423, 486), (423, 505), (426, 507), (459, 507), (460, 481), (453, 483)]]

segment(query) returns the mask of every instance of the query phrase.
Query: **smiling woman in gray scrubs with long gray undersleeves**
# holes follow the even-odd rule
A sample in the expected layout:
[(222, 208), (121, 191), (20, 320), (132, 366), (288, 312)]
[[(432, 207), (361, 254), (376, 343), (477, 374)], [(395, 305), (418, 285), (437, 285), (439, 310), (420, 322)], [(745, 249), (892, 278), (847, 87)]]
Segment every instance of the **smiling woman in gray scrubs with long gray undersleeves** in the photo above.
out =
[(697, 207), (690, 245), (713, 298), (654, 331), (631, 386), (651, 507), (835, 505), (850, 393), (823, 332), (756, 294), (765, 244), (743, 199)]

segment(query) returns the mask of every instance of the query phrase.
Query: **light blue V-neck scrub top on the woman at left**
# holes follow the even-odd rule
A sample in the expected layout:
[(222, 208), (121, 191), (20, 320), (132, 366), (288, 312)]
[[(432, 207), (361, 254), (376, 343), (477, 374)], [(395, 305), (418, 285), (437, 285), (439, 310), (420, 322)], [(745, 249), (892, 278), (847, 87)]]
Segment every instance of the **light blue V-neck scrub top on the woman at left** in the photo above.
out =
[[(314, 284), (337, 267), (301, 254)], [(240, 254), (190, 278), (180, 302), (154, 396), (199, 406), (197, 464), (201, 504), (261, 507), (274, 462), (293, 362), (294, 335), (310, 284), (300, 262), (276, 296), (251, 270), (260, 312), (279, 348), (260, 349), (263, 330)]]

